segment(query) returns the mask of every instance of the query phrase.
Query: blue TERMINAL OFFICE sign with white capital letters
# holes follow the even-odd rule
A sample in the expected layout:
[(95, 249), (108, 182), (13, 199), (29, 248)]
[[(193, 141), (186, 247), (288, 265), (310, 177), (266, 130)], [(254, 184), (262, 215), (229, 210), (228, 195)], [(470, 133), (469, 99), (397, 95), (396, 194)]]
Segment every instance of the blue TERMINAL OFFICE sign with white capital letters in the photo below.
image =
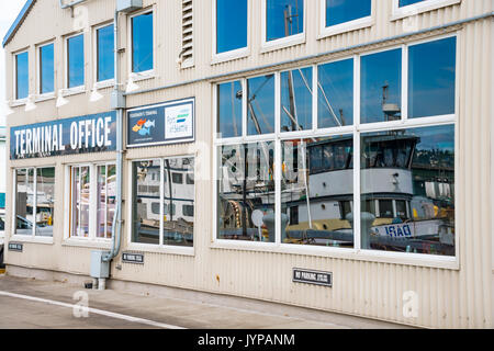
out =
[(13, 160), (113, 151), (115, 144), (115, 111), (10, 129), (10, 158)]

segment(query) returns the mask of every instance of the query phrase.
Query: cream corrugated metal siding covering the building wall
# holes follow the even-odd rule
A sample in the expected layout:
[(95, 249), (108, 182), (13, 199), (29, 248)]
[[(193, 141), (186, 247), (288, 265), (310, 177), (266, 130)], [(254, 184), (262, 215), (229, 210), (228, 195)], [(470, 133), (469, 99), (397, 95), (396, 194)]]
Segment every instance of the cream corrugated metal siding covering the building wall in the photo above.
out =
[[(374, 0), (374, 2), (378, 2)], [(181, 0), (144, 1), (146, 7), (156, 9), (158, 50), (156, 68), (158, 76), (139, 81), (143, 89), (156, 88), (180, 81), (209, 77), (213, 75), (238, 71), (262, 65), (285, 61), (312, 54), (325, 53), (361, 43), (369, 43), (385, 37), (403, 34), (404, 21), (390, 21), (392, 1), (379, 1), (375, 25), (349, 33), (338, 34), (324, 39), (316, 39), (318, 20), (307, 21), (306, 44), (293, 47), (259, 53), (260, 47), (260, 1), (255, 1), (252, 25), (250, 26), (251, 55), (211, 66), (211, 16), (194, 16), (194, 68), (180, 69), (176, 63), (181, 47)], [(156, 4), (157, 3), (157, 4)], [(318, 19), (318, 1), (307, 1), (307, 19)], [(316, 5), (317, 3), (317, 5)], [(211, 13), (211, 1), (194, 1), (194, 13)], [(430, 11), (418, 15), (418, 29), (434, 27), (461, 19), (481, 15), (492, 11), (491, 0), (463, 0), (461, 5)], [(85, 5), (90, 24), (96, 25), (113, 18), (114, 1), (88, 1)], [(43, 15), (38, 15), (43, 13)], [(46, 20), (47, 14), (52, 16)], [(78, 12), (76, 12), (77, 14)], [(83, 12), (80, 12), (81, 14)], [(122, 30), (125, 21), (121, 16)], [(42, 23), (43, 22), (43, 23)], [(50, 25), (53, 24), (53, 25)], [(74, 21), (70, 11), (60, 11), (58, 1), (37, 1), (31, 15), (20, 27), (18, 34), (7, 46), (14, 52), (30, 44), (44, 42), (53, 37), (53, 33), (66, 34), (72, 31)], [(204, 30), (202, 30), (204, 29)], [(490, 210), (492, 199), (489, 196), (492, 81), (486, 72), (492, 71), (492, 19), (473, 22), (462, 26), (460, 31), (460, 81), (459, 123), (457, 124), (459, 143), (459, 165), (457, 177), (457, 228), (459, 238), (459, 270), (438, 269), (417, 265), (368, 262), (363, 260), (339, 259), (305, 254), (288, 254), (276, 252), (256, 252), (238, 249), (210, 248), (213, 236), (213, 208), (211, 182), (197, 182), (197, 229), (194, 257), (147, 252), (145, 265), (125, 264), (122, 271), (113, 269), (115, 279), (164, 284), (191, 290), (200, 290), (220, 294), (231, 294), (266, 301), (273, 301), (311, 308), (340, 312), (412, 324), (441, 328), (492, 328), (493, 327), (493, 290), (492, 290), (492, 236)], [(427, 34), (424, 34), (427, 35)], [(424, 36), (420, 35), (420, 36)], [(122, 47), (128, 47), (126, 35), (121, 37)], [(86, 47), (89, 46), (86, 36)], [(199, 45), (198, 43), (201, 43)], [(63, 83), (63, 55), (59, 52), (63, 41), (56, 41), (56, 81)], [(385, 44), (390, 45), (390, 44)], [(34, 56), (34, 47), (30, 50), (30, 59)], [(128, 53), (123, 55), (125, 58)], [(346, 54), (348, 55), (348, 54)], [(86, 50), (87, 90), (92, 81), (92, 54)], [(333, 58), (328, 56), (328, 58)], [(8, 67), (12, 67), (12, 58), (7, 55)], [(125, 81), (126, 59), (122, 60), (122, 81)], [(31, 80), (34, 68), (31, 66)], [(12, 80), (12, 71), (7, 71), (7, 81)], [(32, 87), (34, 82), (32, 81)], [(8, 97), (12, 94), (8, 84)], [(103, 90), (106, 94), (109, 90)], [(209, 177), (212, 177), (212, 87), (201, 82), (175, 89), (136, 94), (127, 98), (127, 106), (137, 106), (176, 99), (195, 97), (197, 99), (197, 143), (193, 145), (175, 145), (156, 148), (131, 149), (128, 159), (162, 157), (171, 155), (193, 154)], [(9, 126), (31, 124), (53, 118), (103, 112), (109, 106), (105, 98), (98, 103), (88, 103), (89, 92), (68, 98), (70, 103), (61, 109), (55, 107), (55, 101), (37, 103), (34, 112), (22, 112), (8, 118)], [(9, 143), (9, 141), (8, 141)], [(63, 165), (66, 162), (111, 159), (114, 154), (59, 157), (37, 160), (43, 165), (57, 165), (57, 179), (64, 179)], [(31, 160), (10, 162), (9, 167), (32, 166)], [(127, 165), (124, 169), (124, 199), (127, 193)], [(64, 182), (57, 181), (56, 214), (61, 218), (64, 213)], [(8, 176), (8, 199), (12, 199), (12, 172)], [(10, 211), (8, 200), (8, 211)], [(127, 210), (124, 206), (124, 218)], [(7, 233), (10, 230), (7, 223)], [(64, 226), (60, 219), (55, 222), (55, 244), (24, 244), (24, 253), (8, 252), (7, 260), (19, 264), (47, 270), (59, 270), (71, 273), (88, 274), (91, 248), (61, 246)], [(122, 248), (127, 248), (126, 226)], [(293, 284), (291, 270), (294, 267), (332, 271), (334, 287)], [(418, 318), (403, 316), (403, 293), (414, 291), (418, 299)]]

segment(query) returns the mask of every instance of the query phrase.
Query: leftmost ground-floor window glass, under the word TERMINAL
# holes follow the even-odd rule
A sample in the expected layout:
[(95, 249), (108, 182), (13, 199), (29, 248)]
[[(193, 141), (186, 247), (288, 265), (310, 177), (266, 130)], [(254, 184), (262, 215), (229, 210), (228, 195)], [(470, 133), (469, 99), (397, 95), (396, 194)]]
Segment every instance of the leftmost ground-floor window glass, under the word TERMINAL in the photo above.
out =
[(15, 170), (14, 234), (53, 237), (55, 168)]

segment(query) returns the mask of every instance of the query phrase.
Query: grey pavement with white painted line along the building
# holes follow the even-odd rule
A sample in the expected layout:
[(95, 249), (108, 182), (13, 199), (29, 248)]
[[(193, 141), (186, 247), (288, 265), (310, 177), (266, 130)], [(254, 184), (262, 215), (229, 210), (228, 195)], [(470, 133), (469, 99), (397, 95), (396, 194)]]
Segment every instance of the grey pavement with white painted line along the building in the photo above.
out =
[[(75, 295), (76, 294), (76, 295)], [(86, 295), (87, 294), (87, 295)], [(76, 296), (76, 299), (75, 299)], [(81, 297), (88, 297), (89, 316)], [(362, 329), (406, 328), (364, 318), (316, 312), (233, 308), (114, 290), (83, 290), (60, 282), (0, 276), (0, 329)], [(274, 310), (274, 309), (272, 309)], [(279, 308), (277, 309), (279, 310)], [(301, 317), (303, 316), (303, 317)]]

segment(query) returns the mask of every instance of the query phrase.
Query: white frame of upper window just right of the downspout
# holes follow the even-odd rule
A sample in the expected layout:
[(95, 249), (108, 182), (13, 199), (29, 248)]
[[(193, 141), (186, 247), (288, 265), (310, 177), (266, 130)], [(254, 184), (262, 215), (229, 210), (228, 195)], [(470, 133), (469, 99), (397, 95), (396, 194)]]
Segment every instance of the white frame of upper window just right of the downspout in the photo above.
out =
[[(142, 71), (142, 72), (134, 72), (134, 43), (132, 39), (132, 34), (133, 34), (133, 27), (132, 27), (132, 20), (136, 16), (139, 16), (142, 14), (147, 14), (147, 13), (153, 13), (153, 68)], [(150, 78), (155, 78), (156, 72), (157, 72), (157, 38), (156, 38), (156, 34), (157, 34), (157, 24), (156, 24), (156, 15), (157, 15), (157, 8), (156, 4), (133, 12), (131, 14), (127, 15), (127, 43), (128, 43), (128, 55), (127, 55), (127, 77), (133, 77), (134, 82), (139, 81), (139, 80), (145, 80), (145, 79), (150, 79)]]

